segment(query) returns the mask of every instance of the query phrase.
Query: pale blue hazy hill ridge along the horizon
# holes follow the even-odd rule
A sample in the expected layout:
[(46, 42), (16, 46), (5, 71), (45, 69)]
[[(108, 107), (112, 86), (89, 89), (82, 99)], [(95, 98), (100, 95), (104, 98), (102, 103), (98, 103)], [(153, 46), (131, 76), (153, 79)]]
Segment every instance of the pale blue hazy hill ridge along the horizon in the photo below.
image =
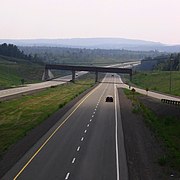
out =
[(125, 49), (132, 51), (180, 52), (180, 45), (169, 46), (160, 42), (124, 38), (72, 38), (72, 39), (0, 39), (1, 43), (17, 46), (69, 47), (88, 49)]

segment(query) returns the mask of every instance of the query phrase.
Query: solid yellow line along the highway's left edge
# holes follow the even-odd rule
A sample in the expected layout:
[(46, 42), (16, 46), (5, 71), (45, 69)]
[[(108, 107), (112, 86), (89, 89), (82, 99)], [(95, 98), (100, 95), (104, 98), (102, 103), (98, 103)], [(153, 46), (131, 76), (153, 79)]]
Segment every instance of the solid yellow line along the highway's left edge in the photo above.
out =
[(13, 178), (16, 180), (20, 174), (26, 169), (26, 167), (33, 161), (33, 159), (37, 156), (37, 154), (43, 149), (43, 147), (49, 142), (49, 140), (54, 136), (54, 134), (65, 124), (65, 122), (72, 116), (72, 114), (80, 107), (80, 105), (98, 88), (100, 88), (102, 84), (98, 85), (95, 89), (93, 89), (87, 96), (78, 104), (78, 106), (66, 117), (66, 119), (53, 131), (53, 133), (46, 139), (46, 141), (40, 146), (40, 148), (34, 153), (34, 155), (29, 159), (29, 161), (22, 167), (22, 169), (18, 172), (18, 174)]

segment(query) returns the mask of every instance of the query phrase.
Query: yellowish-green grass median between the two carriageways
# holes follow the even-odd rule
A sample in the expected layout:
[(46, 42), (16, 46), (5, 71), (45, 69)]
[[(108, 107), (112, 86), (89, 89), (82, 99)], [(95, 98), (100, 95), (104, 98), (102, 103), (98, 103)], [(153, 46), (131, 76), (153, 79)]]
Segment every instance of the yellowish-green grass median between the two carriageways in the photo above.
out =
[(49, 88), (35, 95), (0, 103), (0, 156), (28, 131), (43, 122), (55, 111), (70, 102), (86, 89), (94, 79), (82, 79), (76, 84), (67, 83)]

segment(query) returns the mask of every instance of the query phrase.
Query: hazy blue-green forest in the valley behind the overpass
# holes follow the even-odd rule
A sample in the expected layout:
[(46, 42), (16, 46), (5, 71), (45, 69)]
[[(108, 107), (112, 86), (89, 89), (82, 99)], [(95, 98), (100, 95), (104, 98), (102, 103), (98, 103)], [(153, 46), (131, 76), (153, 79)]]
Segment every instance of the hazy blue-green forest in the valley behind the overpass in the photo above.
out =
[(157, 51), (129, 51), (118, 49), (82, 49), (65, 47), (20, 47), (26, 54), (42, 59), (45, 63), (106, 65), (122, 61), (135, 61), (160, 55)]

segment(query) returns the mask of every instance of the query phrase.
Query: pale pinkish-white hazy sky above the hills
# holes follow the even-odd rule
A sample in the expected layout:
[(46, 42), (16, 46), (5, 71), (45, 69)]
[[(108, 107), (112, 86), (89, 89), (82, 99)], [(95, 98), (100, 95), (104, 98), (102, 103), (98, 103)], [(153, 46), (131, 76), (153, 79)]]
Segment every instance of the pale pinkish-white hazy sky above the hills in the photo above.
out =
[(121, 37), (180, 44), (180, 0), (0, 0), (0, 39)]

